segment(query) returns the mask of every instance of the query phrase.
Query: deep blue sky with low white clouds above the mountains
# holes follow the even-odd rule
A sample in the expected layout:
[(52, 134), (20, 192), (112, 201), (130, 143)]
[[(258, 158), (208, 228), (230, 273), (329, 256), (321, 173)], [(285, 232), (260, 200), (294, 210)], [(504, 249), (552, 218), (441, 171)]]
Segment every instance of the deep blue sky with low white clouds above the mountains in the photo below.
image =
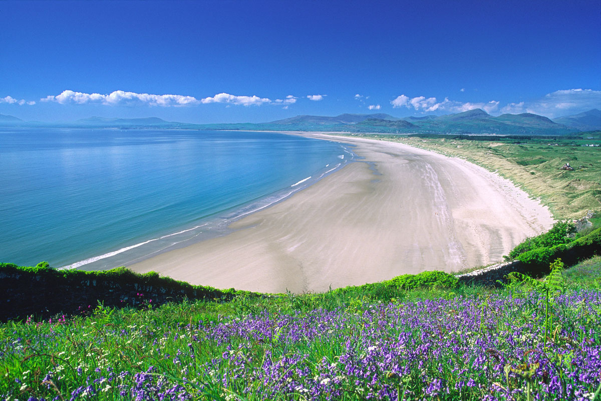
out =
[(560, 117), (601, 108), (600, 13), (599, 0), (0, 1), (0, 113)]

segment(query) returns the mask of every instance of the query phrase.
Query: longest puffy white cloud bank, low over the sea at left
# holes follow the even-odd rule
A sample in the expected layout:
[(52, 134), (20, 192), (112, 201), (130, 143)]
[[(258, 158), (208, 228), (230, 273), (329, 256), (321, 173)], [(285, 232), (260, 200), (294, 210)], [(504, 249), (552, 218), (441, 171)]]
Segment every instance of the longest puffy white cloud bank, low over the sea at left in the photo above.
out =
[(187, 106), (198, 104), (198, 99), (192, 96), (182, 96), (175, 94), (148, 94), (126, 91), (114, 91), (109, 94), (100, 93), (82, 93), (71, 90), (63, 91), (56, 96), (46, 96), (40, 99), (42, 102), (56, 102), (61, 105), (75, 103), (85, 105), (88, 103), (100, 103), (109, 106)]

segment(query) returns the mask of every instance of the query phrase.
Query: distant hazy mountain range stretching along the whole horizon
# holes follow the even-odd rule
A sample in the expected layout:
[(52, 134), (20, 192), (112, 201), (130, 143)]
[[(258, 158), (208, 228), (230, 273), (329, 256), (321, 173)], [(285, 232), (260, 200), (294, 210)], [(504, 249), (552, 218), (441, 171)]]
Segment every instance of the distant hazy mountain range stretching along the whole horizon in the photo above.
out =
[(148, 118), (90, 117), (63, 123), (23, 121), (11, 115), (0, 114), (4, 126), (50, 126), (119, 129), (200, 129), (200, 130), (288, 130), (377, 133), (494, 133), (498, 135), (566, 135), (578, 131), (601, 129), (601, 111), (568, 115), (550, 120), (542, 115), (502, 114), (493, 116), (482, 109), (448, 115), (424, 117), (393, 117), (389, 114), (340, 114), (334, 117), (297, 115), (269, 123), (191, 124)]

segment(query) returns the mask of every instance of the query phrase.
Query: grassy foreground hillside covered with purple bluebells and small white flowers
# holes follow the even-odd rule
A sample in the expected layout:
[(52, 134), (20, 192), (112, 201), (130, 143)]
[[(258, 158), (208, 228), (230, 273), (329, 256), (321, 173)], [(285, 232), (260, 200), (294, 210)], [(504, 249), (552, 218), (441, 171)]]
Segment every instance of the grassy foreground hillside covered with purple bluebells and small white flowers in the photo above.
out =
[(599, 277), (596, 257), (550, 293), (382, 283), (5, 323), (0, 398), (588, 400)]

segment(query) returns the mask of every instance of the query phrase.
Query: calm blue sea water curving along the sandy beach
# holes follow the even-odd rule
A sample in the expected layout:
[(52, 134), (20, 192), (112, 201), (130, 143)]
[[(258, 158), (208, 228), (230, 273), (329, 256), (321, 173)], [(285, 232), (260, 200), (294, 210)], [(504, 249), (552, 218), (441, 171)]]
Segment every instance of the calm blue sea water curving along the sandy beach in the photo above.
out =
[(225, 233), (350, 156), (278, 133), (0, 129), (0, 262), (127, 265)]

